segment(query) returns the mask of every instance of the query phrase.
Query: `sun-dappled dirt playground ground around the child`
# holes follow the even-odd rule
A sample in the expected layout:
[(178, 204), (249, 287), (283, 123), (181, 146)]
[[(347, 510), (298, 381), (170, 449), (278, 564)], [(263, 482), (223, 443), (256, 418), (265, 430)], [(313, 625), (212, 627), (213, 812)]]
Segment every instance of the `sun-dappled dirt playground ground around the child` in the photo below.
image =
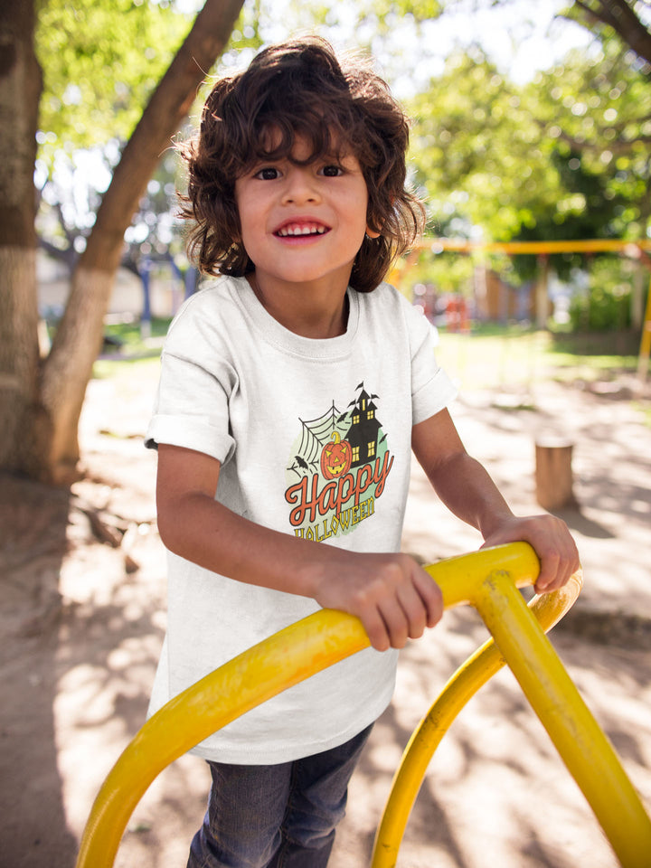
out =
[[(165, 630), (165, 558), (156, 533), (156, 457), (142, 436), (155, 364), (90, 383), (81, 422), (87, 476), (71, 491), (0, 477), (0, 864), (71, 868), (90, 806), (144, 722)], [(455, 416), (517, 512), (537, 512), (533, 441), (574, 443), (585, 590), (552, 634), (572, 678), (651, 809), (651, 429), (630, 383), (533, 393), (467, 393)], [(472, 551), (413, 468), (403, 547), (424, 561)], [(401, 660), (392, 706), (351, 786), (334, 868), (369, 864), (375, 828), (410, 732), (484, 641), (455, 609)], [(136, 808), (118, 868), (183, 866), (208, 776), (191, 756)], [(651, 854), (649, 854), (651, 864)], [(594, 817), (508, 671), (467, 705), (432, 761), (401, 868), (615, 868)]]

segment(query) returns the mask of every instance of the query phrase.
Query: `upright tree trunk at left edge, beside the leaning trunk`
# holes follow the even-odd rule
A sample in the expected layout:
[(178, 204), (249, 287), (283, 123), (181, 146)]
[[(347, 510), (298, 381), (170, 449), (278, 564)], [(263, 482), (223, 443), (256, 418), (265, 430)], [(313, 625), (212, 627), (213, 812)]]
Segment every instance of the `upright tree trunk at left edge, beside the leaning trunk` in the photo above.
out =
[(37, 406), (36, 194), (41, 69), (31, 0), (0, 2), (0, 467), (23, 467)]

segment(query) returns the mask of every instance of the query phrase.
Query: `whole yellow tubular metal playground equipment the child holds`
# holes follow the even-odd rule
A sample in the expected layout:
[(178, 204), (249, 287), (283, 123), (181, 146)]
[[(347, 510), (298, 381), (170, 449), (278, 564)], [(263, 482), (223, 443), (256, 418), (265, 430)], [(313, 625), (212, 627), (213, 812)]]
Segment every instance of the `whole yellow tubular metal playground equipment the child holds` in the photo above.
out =
[[(580, 592), (580, 574), (529, 607), (539, 562), (524, 542), (496, 546), (425, 568), (446, 609), (474, 606), (493, 634), (458, 669), (420, 722), (403, 755), (378, 828), (372, 868), (396, 864), (401, 838), (429, 760), (467, 700), (507, 663), (594, 811), (623, 868), (651, 863), (651, 819), (599, 724), (543, 630)], [(109, 772), (81, 839), (77, 868), (110, 868), (140, 797), (158, 773), (213, 731), (345, 656), (369, 645), (358, 618), (324, 609), (298, 621), (193, 684), (157, 712)]]

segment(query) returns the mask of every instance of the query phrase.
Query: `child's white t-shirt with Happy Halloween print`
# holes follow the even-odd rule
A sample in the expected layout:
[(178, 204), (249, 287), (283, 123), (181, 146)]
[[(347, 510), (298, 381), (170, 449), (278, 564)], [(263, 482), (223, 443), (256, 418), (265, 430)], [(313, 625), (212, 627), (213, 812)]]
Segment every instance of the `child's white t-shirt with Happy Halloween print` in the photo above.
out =
[[(357, 552), (400, 550), (412, 425), (455, 389), (420, 310), (382, 284), (348, 290), (346, 332), (296, 335), (245, 278), (188, 299), (165, 341), (146, 445), (192, 448), (222, 467), (215, 498), (282, 533)], [(168, 624), (150, 703), (169, 699), (315, 612), (168, 553)], [(365, 649), (263, 703), (193, 752), (232, 763), (296, 760), (344, 743), (392, 697), (397, 652)]]

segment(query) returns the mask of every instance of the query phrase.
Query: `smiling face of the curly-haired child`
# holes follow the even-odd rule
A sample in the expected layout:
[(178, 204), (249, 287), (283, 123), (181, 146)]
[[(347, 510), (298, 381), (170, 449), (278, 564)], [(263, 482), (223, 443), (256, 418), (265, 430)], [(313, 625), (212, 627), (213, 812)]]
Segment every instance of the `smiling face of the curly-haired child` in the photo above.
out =
[[(307, 159), (296, 137), (292, 156)], [(288, 159), (254, 165), (235, 182), (244, 248), (259, 283), (347, 286), (366, 231), (368, 192), (355, 156), (308, 165)]]

